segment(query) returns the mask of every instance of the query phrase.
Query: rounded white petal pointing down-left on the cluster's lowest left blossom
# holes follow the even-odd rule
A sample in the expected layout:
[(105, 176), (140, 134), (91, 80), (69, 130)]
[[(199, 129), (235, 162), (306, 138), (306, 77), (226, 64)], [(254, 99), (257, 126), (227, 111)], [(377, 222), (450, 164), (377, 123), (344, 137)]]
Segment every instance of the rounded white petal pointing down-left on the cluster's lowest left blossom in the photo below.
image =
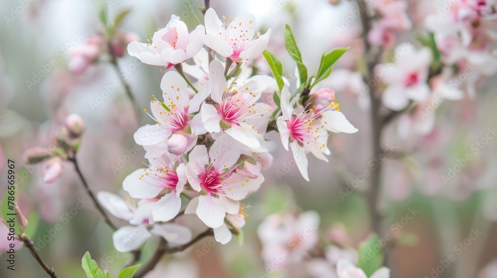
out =
[(145, 226), (123, 226), (112, 234), (114, 248), (119, 252), (129, 252), (140, 248), (152, 235)]

